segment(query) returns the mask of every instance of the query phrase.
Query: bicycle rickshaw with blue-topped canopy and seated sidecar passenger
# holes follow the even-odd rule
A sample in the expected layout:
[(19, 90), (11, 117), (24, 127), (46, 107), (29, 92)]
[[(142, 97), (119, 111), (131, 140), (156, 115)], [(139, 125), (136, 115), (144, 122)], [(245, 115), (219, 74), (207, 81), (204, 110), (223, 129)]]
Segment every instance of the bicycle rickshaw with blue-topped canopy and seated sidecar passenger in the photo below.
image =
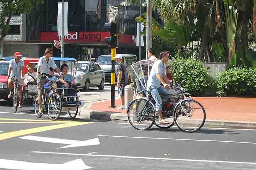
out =
[[(78, 61), (74, 58), (59, 58), (52, 57), (58, 68), (62, 64), (67, 64), (69, 67), (69, 73), (74, 78), (76, 75), (76, 68)], [(39, 111), (37, 94), (34, 98), (34, 112), (38, 118), (41, 118), (43, 114), (48, 113), (49, 118), (52, 120), (57, 120), (62, 114), (62, 112), (68, 112), (70, 118), (75, 118), (78, 114), (78, 108), (81, 104), (79, 101), (80, 91), (79, 89), (72, 88), (58, 88), (56, 87), (56, 82), (51, 81), (51, 76), (49, 74), (43, 74), (46, 77), (47, 82), (44, 84), (44, 95), (42, 96), (42, 114)], [(70, 95), (70, 91), (72, 95)]]

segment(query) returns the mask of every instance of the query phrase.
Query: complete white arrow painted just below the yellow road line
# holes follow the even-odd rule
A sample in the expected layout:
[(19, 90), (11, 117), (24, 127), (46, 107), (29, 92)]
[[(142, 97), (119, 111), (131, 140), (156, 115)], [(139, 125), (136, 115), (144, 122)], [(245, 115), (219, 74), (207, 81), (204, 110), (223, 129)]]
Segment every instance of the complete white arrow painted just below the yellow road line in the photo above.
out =
[(41, 142), (50, 142), (50, 143), (61, 143), (66, 144), (67, 146), (60, 147), (61, 148), (71, 148), (71, 147), (79, 147), (79, 146), (91, 146), (91, 145), (100, 145), (100, 141), (98, 138), (86, 140), (86, 141), (76, 141), (76, 140), (68, 140), (68, 139), (58, 139), (51, 137), (40, 137), (40, 136), (24, 136), (20, 137), (21, 139), (27, 139), (32, 141), (41, 141)]

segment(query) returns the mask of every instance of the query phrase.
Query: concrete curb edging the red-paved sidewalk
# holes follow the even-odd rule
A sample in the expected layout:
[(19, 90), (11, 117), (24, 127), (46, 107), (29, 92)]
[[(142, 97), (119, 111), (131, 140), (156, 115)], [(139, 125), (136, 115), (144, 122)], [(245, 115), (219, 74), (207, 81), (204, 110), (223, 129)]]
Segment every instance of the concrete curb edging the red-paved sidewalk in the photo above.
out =
[[(90, 118), (103, 121), (125, 121), (128, 123), (127, 115), (124, 113), (112, 113), (102, 111), (80, 112), (81, 118)], [(205, 128), (228, 128), (228, 129), (256, 129), (256, 122), (249, 121), (227, 121), (227, 120), (206, 120)]]

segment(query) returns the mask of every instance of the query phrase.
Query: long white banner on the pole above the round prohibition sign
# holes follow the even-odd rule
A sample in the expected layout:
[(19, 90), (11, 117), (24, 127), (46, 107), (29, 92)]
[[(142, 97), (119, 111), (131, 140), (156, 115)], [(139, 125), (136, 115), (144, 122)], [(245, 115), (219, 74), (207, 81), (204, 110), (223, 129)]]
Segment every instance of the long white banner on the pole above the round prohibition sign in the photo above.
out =
[[(62, 35), (62, 2), (58, 2), (58, 35)], [(64, 2), (64, 36), (68, 35), (68, 2)]]

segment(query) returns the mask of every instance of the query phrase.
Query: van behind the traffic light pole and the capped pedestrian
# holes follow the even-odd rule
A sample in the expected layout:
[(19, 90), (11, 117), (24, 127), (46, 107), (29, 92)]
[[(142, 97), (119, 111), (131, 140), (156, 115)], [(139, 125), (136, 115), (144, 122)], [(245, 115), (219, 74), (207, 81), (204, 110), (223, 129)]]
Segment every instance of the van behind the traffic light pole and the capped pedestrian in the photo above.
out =
[[(126, 65), (128, 74), (132, 77), (132, 67), (131, 65), (137, 62), (137, 56), (133, 54), (120, 54), (123, 56), (123, 62)], [(101, 69), (105, 73), (105, 82), (111, 83), (111, 54), (98, 56), (96, 61)], [(115, 65), (117, 67), (115, 62)]]

